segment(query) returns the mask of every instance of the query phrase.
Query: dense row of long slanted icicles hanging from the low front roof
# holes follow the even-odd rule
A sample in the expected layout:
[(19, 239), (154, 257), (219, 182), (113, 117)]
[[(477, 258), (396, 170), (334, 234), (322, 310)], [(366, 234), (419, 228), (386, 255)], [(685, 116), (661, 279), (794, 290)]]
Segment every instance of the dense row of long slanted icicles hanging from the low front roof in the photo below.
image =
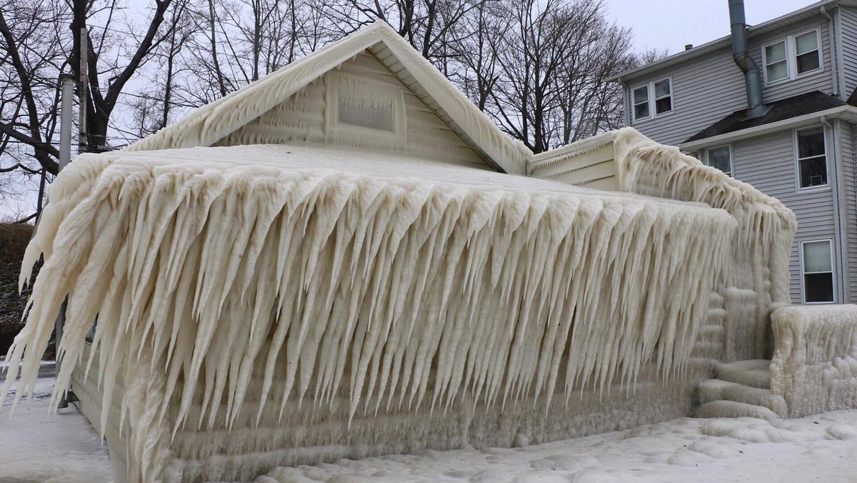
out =
[[(573, 404), (573, 389), (632, 383), (650, 360), (662, 377), (681, 370), (734, 234), (732, 217), (693, 203), (502, 188), (464, 168), (475, 178), (452, 183), (289, 167), (293, 150), (75, 160), (27, 248), (22, 282), (45, 264), (0, 396), (21, 360), (33, 387), (68, 295), (59, 352), (81, 359), (98, 317), (103, 418), (123, 365), (161, 381), (149, 419), (176, 401), (171, 432), (234, 420), (255, 370), (257, 417), (341, 395), (351, 416), (465, 394), (500, 408), (554, 389)], [(259, 161), (272, 154), (282, 166)], [(265, 404), (273, 387), (279, 408)]]

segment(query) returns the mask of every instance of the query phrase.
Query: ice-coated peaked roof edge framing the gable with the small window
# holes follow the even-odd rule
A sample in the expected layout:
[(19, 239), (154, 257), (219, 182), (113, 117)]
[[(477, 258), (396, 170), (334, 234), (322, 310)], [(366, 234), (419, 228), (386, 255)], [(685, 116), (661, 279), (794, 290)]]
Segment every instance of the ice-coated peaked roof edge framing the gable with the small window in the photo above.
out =
[[(381, 62), (395, 62), (397, 75), (403, 69), (427, 94), (439, 114), (448, 118), (453, 130), (470, 142), (501, 172), (524, 174), (532, 155), (523, 143), (513, 140), (485, 116), (427, 59), (413, 49), (384, 21), (351, 33), (319, 51), (298, 59), (259, 81), (201, 106), (188, 116), (135, 142), (126, 150), (141, 151), (212, 146), (233, 131), (288, 99), (298, 89), (324, 75), (362, 51), (384, 45), (393, 55)], [(411, 85), (414, 85), (411, 83)]]

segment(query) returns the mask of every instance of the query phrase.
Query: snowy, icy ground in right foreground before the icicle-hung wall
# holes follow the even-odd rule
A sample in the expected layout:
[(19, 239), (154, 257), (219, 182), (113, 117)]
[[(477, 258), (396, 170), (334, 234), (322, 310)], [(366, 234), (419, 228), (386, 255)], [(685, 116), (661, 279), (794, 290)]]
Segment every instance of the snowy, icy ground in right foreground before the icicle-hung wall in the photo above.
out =
[(257, 483), (854, 483), (857, 410), (800, 420), (689, 418), (518, 449), (424, 451), (278, 468)]

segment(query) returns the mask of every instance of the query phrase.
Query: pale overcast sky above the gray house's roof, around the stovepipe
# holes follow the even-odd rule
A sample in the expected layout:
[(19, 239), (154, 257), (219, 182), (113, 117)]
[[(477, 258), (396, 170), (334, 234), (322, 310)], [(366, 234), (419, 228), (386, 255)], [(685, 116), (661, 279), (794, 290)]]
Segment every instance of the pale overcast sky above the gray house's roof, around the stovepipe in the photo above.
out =
[[(727, 0), (605, 0), (608, 15), (620, 26), (631, 27), (634, 47), (662, 49), (669, 53), (686, 44), (702, 45), (729, 33)], [(745, 0), (750, 25), (775, 19), (816, 0)]]

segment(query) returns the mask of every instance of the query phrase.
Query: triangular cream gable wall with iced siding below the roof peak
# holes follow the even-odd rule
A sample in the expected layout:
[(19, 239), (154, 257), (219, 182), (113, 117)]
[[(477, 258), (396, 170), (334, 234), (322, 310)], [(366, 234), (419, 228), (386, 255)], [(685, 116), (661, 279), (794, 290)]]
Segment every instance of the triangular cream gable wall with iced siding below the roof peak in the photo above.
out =
[[(390, 130), (339, 120), (340, 103), (381, 107)], [(218, 146), (313, 142), (415, 154), (464, 166), (492, 169), (411, 88), (366, 50), (321, 75), (260, 117), (225, 136)]]

